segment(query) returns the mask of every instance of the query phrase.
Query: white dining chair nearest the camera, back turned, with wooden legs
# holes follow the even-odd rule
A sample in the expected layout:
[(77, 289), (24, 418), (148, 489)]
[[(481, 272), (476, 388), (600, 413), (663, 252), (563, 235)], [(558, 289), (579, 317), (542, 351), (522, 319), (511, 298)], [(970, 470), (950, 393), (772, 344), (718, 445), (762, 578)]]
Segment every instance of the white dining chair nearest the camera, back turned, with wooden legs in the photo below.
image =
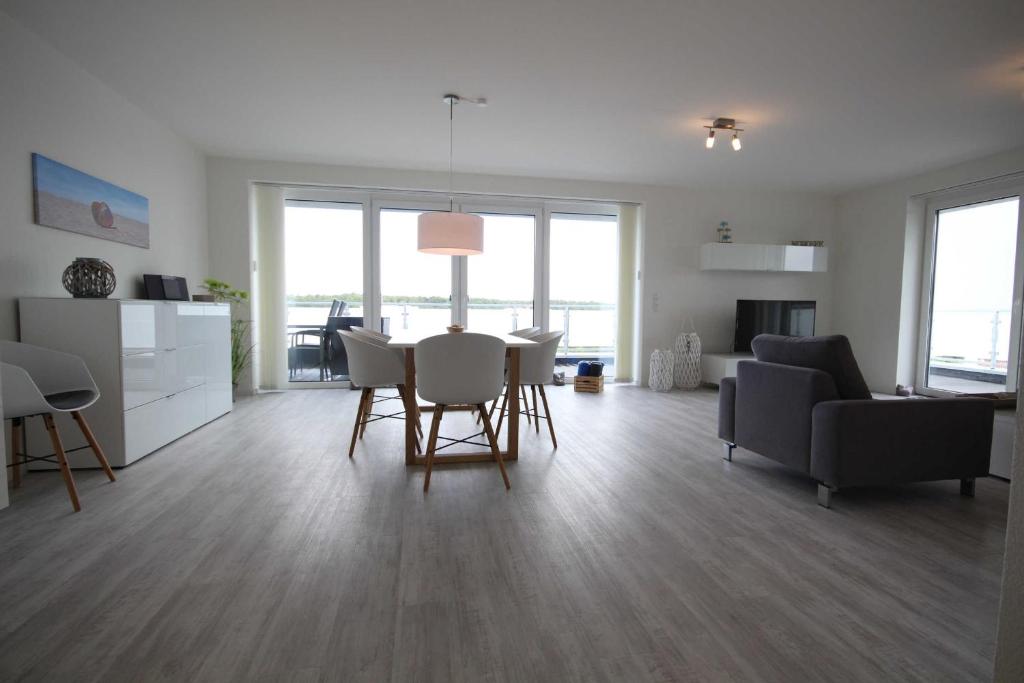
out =
[[(428, 337), (416, 345), (416, 385), (420, 395), (434, 404), (430, 435), (427, 437), (424, 493), (430, 488), (430, 473), (438, 451), (437, 432), (444, 410), (450, 405), (470, 405), (477, 410), (483, 422), (483, 431), (473, 437), (487, 437), (505, 488), (511, 488), (502, 452), (498, 447), (498, 437), (485, 408), (488, 400), (502, 392), (504, 384), (505, 342), (497, 337), (472, 333), (446, 334)], [(442, 438), (449, 441), (449, 445), (470, 442), (469, 439)]]

